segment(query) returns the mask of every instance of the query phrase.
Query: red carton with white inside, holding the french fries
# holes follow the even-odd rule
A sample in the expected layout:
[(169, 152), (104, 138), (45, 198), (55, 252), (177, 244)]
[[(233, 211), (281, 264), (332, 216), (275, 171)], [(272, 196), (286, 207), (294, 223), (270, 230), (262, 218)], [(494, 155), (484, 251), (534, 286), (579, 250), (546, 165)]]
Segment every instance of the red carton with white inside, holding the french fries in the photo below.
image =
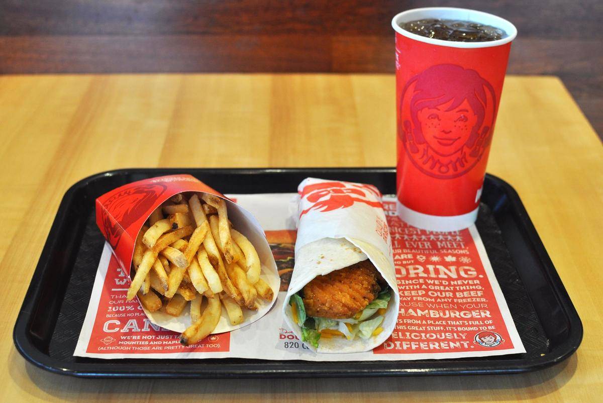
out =
[[(236, 205), (223, 194), (188, 174), (170, 175), (139, 180), (120, 186), (96, 199), (96, 224), (112, 247), (119, 265), (130, 274), (134, 241), (142, 225), (151, 213), (164, 201), (181, 192), (209, 193), (226, 201), (229, 220), (233, 227), (247, 237), (259, 255), (262, 265), (261, 278), (274, 290), (274, 298), (264, 303), (257, 311), (243, 309), (245, 320), (240, 325), (230, 325), (226, 309), (213, 333), (232, 331), (247, 326), (264, 316), (276, 302), (279, 290), (279, 274), (276, 263), (259, 222), (247, 210)], [(183, 332), (191, 325), (189, 310), (180, 317), (173, 317), (161, 311), (145, 314), (151, 322), (163, 328)]]

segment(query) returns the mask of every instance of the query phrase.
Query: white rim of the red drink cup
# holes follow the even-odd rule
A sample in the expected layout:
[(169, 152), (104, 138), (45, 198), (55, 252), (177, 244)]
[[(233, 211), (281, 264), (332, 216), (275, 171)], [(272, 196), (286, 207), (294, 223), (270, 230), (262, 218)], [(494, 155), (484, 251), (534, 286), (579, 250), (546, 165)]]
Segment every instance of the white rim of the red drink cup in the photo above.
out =
[[(493, 27), (500, 28), (507, 33), (502, 39), (490, 40), (488, 42), (454, 42), (451, 40), (432, 39), (425, 36), (420, 36), (406, 31), (400, 27), (399, 22), (409, 22), (413, 19), (425, 18), (425, 16), (413, 18), (416, 14), (435, 13), (441, 11), (452, 11), (454, 13), (467, 13), (468, 21), (481, 22), (482, 24), (492, 25)], [(434, 16), (435, 17), (435, 16)], [(439, 17), (439, 16), (438, 16)], [(461, 18), (462, 19), (462, 18)], [(412, 8), (411, 10), (402, 11), (402, 13), (396, 14), (391, 20), (391, 26), (394, 31), (408, 37), (409, 39), (418, 40), (419, 42), (429, 43), (437, 46), (447, 46), (449, 48), (491, 48), (493, 46), (505, 45), (505, 43), (511, 42), (517, 36), (517, 28), (515, 25), (506, 19), (496, 16), (494, 14), (485, 13), (484, 11), (472, 10), (470, 8), (457, 8), (457, 7), (423, 7), (423, 8)]]

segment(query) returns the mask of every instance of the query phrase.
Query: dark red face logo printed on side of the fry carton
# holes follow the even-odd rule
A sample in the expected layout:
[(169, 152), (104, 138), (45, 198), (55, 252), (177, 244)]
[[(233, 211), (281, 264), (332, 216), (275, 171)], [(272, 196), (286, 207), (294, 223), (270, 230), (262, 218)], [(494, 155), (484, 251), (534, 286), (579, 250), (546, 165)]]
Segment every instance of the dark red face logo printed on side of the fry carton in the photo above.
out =
[[(161, 183), (134, 186), (112, 195), (103, 203), (103, 226), (113, 250), (117, 248), (123, 230), (140, 218), (165, 189), (166, 186)], [(111, 220), (109, 214), (117, 222)]]

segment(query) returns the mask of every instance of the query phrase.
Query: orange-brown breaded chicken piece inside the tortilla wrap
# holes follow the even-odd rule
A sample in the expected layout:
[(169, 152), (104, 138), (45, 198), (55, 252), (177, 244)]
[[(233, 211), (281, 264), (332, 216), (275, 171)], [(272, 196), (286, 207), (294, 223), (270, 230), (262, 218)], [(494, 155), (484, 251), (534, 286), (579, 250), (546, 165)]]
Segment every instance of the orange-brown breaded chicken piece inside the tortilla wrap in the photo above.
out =
[(308, 316), (348, 319), (377, 297), (380, 274), (370, 260), (358, 262), (326, 276), (318, 276), (303, 288)]

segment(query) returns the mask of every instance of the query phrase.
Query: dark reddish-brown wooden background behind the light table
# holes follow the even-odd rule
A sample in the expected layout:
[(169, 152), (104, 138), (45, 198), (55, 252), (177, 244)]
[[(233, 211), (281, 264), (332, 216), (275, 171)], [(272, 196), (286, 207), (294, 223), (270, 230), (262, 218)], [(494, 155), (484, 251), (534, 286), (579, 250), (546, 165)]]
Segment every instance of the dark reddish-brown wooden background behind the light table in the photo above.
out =
[[(440, 0), (513, 22), (508, 71), (561, 77), (603, 134), (603, 0)], [(393, 72), (408, 0), (0, 0), (0, 73)]]

